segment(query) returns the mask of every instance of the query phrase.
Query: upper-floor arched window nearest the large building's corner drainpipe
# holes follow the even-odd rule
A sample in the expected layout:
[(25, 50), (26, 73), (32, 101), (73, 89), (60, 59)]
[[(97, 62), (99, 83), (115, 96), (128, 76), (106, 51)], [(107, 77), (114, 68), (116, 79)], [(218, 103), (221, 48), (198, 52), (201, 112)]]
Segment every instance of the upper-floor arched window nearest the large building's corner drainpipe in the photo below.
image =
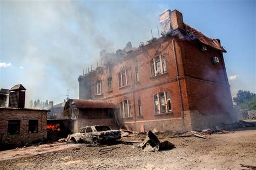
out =
[(164, 56), (156, 56), (151, 60), (150, 65), (152, 77), (166, 73), (166, 60)]

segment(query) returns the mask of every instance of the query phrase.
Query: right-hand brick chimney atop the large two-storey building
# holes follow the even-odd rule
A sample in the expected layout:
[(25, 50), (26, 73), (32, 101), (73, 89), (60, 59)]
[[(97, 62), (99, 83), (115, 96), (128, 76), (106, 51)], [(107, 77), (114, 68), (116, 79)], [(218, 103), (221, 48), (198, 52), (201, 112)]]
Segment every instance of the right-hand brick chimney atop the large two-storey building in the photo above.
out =
[(178, 10), (174, 10), (170, 13), (170, 18), (172, 30), (184, 30), (182, 13), (180, 13)]

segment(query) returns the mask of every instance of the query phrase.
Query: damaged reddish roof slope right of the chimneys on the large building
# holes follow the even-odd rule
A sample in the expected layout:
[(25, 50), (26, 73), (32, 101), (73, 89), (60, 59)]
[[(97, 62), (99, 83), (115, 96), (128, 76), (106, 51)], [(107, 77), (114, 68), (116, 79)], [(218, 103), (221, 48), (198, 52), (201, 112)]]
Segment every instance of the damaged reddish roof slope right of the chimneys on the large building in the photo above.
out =
[(188, 32), (190, 32), (194, 37), (196, 37), (199, 41), (201, 41), (202, 43), (211, 46), (215, 49), (219, 49), (221, 52), (226, 53), (227, 51), (223, 48), (223, 46), (221, 46), (218, 42), (217, 39), (212, 39), (209, 37), (206, 37), (203, 33), (201, 33), (200, 31), (192, 28), (191, 26), (184, 24), (185, 26), (185, 30), (187, 30)]

